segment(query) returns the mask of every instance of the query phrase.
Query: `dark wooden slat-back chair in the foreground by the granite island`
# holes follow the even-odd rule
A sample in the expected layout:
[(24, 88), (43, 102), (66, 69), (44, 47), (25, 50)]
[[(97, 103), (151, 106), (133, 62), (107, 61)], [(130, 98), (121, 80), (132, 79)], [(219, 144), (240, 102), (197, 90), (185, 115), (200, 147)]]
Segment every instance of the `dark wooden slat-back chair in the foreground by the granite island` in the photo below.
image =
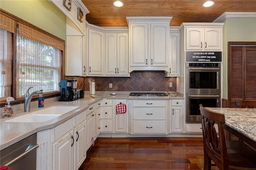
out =
[[(204, 140), (204, 170), (217, 166), (220, 170), (256, 170), (256, 152), (242, 142), (226, 142), (224, 114), (210, 111), (200, 104)], [(214, 124), (217, 123), (219, 137)], [(215, 164), (211, 164), (211, 162)]]

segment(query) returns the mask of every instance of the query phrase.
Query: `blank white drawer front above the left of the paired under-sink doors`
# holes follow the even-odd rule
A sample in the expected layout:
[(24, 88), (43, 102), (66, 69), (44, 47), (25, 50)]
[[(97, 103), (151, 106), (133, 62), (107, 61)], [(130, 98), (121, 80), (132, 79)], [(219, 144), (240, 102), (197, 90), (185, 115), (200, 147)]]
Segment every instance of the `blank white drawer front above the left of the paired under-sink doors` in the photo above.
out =
[(68, 131), (74, 129), (73, 118), (65, 121), (64, 123), (54, 127), (54, 141), (62, 137)]

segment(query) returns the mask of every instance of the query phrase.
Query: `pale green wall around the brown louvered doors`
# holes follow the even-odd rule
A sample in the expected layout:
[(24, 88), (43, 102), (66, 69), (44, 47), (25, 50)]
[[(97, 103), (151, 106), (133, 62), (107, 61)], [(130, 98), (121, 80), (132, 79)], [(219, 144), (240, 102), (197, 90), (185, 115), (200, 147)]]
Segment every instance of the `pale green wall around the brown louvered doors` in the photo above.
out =
[(256, 18), (226, 18), (223, 27), (222, 98), (228, 99), (228, 42), (256, 41)]

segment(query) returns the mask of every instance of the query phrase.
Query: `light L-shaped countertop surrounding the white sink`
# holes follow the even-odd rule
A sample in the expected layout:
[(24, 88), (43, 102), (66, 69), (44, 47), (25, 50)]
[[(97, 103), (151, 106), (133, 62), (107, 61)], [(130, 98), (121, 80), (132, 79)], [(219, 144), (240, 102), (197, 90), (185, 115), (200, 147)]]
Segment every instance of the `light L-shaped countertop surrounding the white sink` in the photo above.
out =
[[(100, 94), (110, 94), (110, 92), (100, 93)], [(170, 100), (170, 99), (184, 99), (181, 96), (169, 96), (169, 97), (128, 97), (129, 94), (120, 93), (116, 94), (115, 96), (106, 97), (107, 99), (128, 99), (128, 100)], [(56, 127), (57, 125), (63, 123), (64, 121), (74, 117), (75, 115), (85, 111), (90, 104), (94, 104), (98, 102), (102, 98), (92, 98), (88, 94), (85, 94), (83, 99), (78, 99), (72, 102), (50, 102), (45, 103), (45, 107), (49, 106), (79, 106), (78, 108), (69, 111), (63, 115), (60, 115), (54, 119), (44, 122), (37, 122), (37, 123), (17, 123), (17, 122), (5, 122), (8, 119), (12, 119), (14, 117), (18, 117), (20, 115), (26, 114), (26, 112), (16, 111), (10, 118), (2, 118), (0, 119), (0, 150), (5, 149), (22, 139), (37, 133), (38, 131), (43, 131), (46, 129), (51, 129)], [(30, 112), (38, 110), (38, 107), (31, 107)], [(28, 112), (28, 113), (30, 113)]]

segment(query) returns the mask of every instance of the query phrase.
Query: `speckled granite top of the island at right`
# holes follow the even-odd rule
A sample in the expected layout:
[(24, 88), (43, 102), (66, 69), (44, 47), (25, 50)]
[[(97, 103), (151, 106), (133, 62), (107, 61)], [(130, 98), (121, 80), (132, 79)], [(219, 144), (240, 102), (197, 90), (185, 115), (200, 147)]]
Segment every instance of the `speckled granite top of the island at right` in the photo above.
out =
[(225, 124), (256, 142), (256, 109), (206, 107), (225, 115)]

